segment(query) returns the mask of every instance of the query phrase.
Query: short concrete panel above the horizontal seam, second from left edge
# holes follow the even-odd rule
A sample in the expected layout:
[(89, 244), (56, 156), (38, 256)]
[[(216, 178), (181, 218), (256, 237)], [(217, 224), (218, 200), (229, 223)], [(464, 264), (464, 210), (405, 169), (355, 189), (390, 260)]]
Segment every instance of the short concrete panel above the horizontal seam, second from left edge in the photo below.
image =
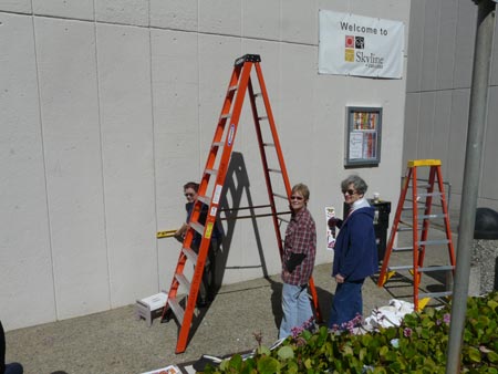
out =
[(32, 0), (34, 14), (94, 20), (94, 0)]

